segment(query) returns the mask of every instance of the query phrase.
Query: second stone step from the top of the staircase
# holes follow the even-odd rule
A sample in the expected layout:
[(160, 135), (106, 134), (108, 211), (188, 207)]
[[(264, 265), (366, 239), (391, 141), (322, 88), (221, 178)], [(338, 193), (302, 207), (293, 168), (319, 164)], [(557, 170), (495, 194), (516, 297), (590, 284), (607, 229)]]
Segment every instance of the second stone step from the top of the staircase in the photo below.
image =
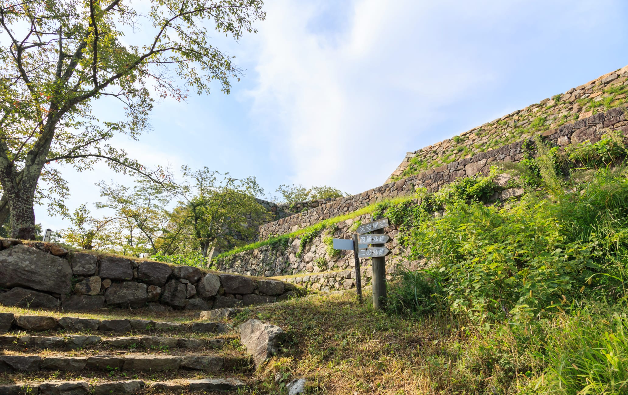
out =
[(0, 350), (6, 349), (205, 349), (222, 347), (226, 339), (188, 339), (164, 336), (100, 337), (96, 335), (31, 336), (0, 335)]

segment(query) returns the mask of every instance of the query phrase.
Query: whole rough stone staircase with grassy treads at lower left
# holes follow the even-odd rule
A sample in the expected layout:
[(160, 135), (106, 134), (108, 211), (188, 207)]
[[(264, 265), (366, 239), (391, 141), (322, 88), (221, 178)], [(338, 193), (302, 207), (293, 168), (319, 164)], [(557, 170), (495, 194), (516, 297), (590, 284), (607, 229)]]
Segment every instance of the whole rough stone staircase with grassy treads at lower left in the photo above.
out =
[(243, 391), (254, 361), (228, 316), (178, 324), (0, 313), (0, 394)]

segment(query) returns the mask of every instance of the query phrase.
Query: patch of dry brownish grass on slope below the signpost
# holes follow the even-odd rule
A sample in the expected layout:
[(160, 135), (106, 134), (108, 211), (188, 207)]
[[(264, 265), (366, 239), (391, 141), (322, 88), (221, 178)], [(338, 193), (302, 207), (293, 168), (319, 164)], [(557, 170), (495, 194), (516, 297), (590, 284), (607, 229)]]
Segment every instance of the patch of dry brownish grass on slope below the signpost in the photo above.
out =
[[(284, 393), (277, 372), (305, 377), (309, 394), (504, 394), (529, 380), (529, 355), (516, 355), (507, 330), (452, 329), (453, 317), (391, 317), (372, 309), (368, 293), (364, 305), (356, 299), (310, 295), (236, 317), (235, 324), (256, 317), (288, 332), (283, 352), (256, 371), (251, 393)], [(495, 358), (512, 359), (514, 373)]]

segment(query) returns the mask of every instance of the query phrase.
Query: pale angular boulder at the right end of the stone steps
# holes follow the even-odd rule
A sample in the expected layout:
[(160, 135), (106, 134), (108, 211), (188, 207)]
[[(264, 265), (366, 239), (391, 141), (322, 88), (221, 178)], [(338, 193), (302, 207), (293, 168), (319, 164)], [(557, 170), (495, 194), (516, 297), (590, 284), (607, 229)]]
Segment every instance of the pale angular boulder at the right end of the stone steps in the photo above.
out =
[(285, 335), (283, 329), (277, 325), (264, 324), (256, 319), (248, 320), (238, 329), (240, 340), (252, 355), (256, 367), (279, 350), (279, 343)]

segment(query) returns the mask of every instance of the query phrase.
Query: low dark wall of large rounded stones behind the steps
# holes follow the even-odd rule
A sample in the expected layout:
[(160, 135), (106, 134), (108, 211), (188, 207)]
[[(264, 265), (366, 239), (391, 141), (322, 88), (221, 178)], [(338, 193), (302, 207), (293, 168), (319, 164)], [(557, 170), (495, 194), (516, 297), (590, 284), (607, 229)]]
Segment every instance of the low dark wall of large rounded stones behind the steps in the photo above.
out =
[(210, 310), (271, 303), (301, 293), (290, 283), (277, 280), (122, 256), (72, 253), (41, 242), (0, 241), (0, 304), (7, 306)]

